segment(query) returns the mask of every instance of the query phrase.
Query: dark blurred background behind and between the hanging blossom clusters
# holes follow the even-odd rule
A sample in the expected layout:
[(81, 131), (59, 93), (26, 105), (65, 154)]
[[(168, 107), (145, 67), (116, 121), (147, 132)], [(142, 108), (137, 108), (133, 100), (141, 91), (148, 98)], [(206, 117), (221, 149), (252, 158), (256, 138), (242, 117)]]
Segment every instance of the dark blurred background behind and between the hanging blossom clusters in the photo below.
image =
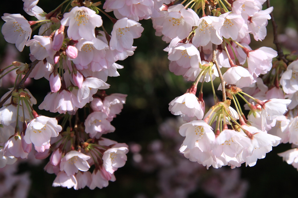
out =
[[(96, 0), (95, 0), (96, 1)], [(45, 12), (50, 12), (62, 1), (40, 0), (38, 6)], [(1, 2), (0, 14), (20, 13), (29, 20), (30, 16), (23, 11), (23, 1), (12, 0)], [(283, 34), (283, 49), (290, 53), (298, 49), (297, 36), (297, 0), (271, 0), (274, 6), (274, 17), (278, 24), (278, 33)], [(266, 5), (263, 5), (266, 9)], [(111, 24), (102, 16), (105, 27)], [(0, 26), (4, 21), (0, 21)], [(89, 188), (74, 190), (52, 187), (55, 175), (46, 173), (43, 168), (47, 161), (30, 163), (22, 161), (15, 169), (16, 175), (30, 178), (18, 185), (28, 185), (28, 197), (297, 197), (298, 172), (291, 165), (282, 161), (277, 155), (291, 148), (290, 144), (281, 144), (273, 147), (265, 159), (257, 161), (253, 167), (231, 170), (229, 167), (213, 169), (195, 162), (190, 162), (179, 153), (178, 149), (183, 141), (179, 136), (177, 127), (180, 120), (168, 111), (168, 103), (175, 97), (185, 93), (190, 82), (181, 76), (175, 76), (168, 69), (167, 53), (163, 49), (167, 46), (161, 37), (155, 36), (152, 22), (140, 21), (145, 28), (142, 36), (134, 40), (137, 46), (135, 54), (125, 61), (117, 62), (124, 68), (118, 70), (120, 76), (109, 77), (107, 83), (111, 87), (107, 94), (127, 94), (126, 104), (120, 115), (112, 121), (116, 131), (106, 134), (106, 138), (123, 142), (130, 146), (128, 160), (124, 167), (115, 172), (116, 181), (109, 182), (103, 189)], [(291, 29), (289, 29), (291, 28)], [(267, 46), (275, 49), (271, 21), (268, 21), (267, 37), (263, 42), (256, 42), (252, 38), (252, 49)], [(12, 44), (12, 47), (14, 45)], [(11, 54), (3, 36), (0, 35), (0, 65)], [(15, 58), (21, 62), (30, 63), (29, 48), (25, 47), (22, 53), (16, 52)], [(217, 82), (219, 83), (219, 82)], [(204, 100), (211, 106), (213, 99), (210, 84), (204, 84)], [(216, 86), (215, 86), (216, 87)], [(44, 96), (50, 91), (48, 81), (45, 79), (31, 81), (27, 88), (38, 101), (34, 106), (39, 114), (53, 116), (46, 111), (38, 109)], [(8, 89), (1, 88), (0, 95)], [(220, 96), (220, 92), (218, 93)], [(219, 97), (221, 98), (221, 97)], [(207, 109), (207, 107), (206, 107)], [(170, 119), (170, 120), (169, 120)], [(9, 166), (9, 165), (8, 165)], [(0, 170), (0, 191), (5, 188), (5, 168)], [(15, 190), (19, 187), (16, 186)], [(24, 194), (26, 191), (24, 190)]]

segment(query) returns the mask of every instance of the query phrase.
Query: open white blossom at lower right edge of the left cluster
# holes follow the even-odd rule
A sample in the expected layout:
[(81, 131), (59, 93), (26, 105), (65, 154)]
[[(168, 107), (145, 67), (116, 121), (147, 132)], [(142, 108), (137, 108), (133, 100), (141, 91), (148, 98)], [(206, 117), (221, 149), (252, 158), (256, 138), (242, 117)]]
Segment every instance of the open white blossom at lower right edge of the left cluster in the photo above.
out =
[(105, 170), (111, 174), (118, 168), (124, 166), (128, 153), (128, 145), (118, 143), (103, 153), (103, 165)]

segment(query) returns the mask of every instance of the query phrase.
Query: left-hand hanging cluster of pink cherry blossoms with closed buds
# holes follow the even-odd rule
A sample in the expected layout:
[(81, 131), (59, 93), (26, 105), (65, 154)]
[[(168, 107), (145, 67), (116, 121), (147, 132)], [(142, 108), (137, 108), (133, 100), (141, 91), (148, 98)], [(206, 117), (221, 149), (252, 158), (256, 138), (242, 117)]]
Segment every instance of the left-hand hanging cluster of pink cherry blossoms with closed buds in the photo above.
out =
[[(116, 62), (134, 54), (133, 42), (143, 27), (130, 17), (110, 17), (113, 29), (106, 32), (97, 8), (100, 2), (66, 5), (64, 1), (45, 13), (38, 1), (23, 1), (24, 10), (37, 21), (27, 21), (20, 14), (2, 16), (4, 39), (18, 51), (28, 46), (32, 63), (14, 61), (0, 70), (0, 85), (4, 76), (16, 70), (14, 87), (1, 98), (1, 168), (27, 158), (34, 146), (37, 159), (50, 156), (45, 170), (57, 175), (53, 186), (106, 187), (116, 180), (114, 171), (124, 166), (128, 146), (102, 135), (115, 131), (111, 121), (121, 112), (127, 95), (107, 95), (104, 89), (110, 87), (108, 76), (119, 76), (117, 69), (123, 68)], [(37, 28), (38, 35), (32, 35)], [(60, 113), (56, 118), (36, 113), (37, 101), (24, 88), (28, 77), (49, 81), (51, 91), (38, 108)], [(79, 116), (81, 108), (90, 114)]]

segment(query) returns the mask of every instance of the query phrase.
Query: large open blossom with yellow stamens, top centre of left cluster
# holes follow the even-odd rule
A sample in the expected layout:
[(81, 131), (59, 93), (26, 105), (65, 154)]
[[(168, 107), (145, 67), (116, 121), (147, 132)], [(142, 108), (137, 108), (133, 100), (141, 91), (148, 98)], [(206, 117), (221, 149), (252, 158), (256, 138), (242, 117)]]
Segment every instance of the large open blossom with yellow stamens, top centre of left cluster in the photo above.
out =
[(70, 12), (66, 12), (61, 20), (61, 25), (69, 26), (67, 35), (73, 40), (84, 38), (92, 40), (95, 38), (95, 27), (100, 27), (103, 20), (100, 15), (87, 7), (74, 7)]

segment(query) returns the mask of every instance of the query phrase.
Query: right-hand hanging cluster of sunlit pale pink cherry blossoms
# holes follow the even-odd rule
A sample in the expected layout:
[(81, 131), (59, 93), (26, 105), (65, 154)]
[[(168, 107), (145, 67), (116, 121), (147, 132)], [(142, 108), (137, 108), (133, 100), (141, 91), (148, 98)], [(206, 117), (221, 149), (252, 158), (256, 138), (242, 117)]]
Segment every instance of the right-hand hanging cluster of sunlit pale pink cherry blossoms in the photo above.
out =
[[(208, 2), (164, 5), (160, 16), (153, 18), (156, 35), (169, 43), (164, 51), (168, 52), (170, 71), (193, 81), (184, 95), (169, 103), (171, 113), (188, 122), (179, 130), (185, 137), (180, 152), (207, 169), (235, 168), (242, 163), (254, 166), (280, 142), (298, 144), (293, 129), (298, 104), (297, 60), (272, 62), (277, 51), (249, 47), (250, 34), (257, 41), (267, 34), (273, 7), (262, 10), (264, 1)], [(223, 67), (227, 69), (222, 74)], [(213, 81), (217, 77), (222, 102), (215, 94)], [(196, 97), (198, 82), (201, 89)], [(211, 82), (214, 95), (214, 106), (207, 113), (204, 82)], [(247, 104), (247, 115), (238, 98)]]

